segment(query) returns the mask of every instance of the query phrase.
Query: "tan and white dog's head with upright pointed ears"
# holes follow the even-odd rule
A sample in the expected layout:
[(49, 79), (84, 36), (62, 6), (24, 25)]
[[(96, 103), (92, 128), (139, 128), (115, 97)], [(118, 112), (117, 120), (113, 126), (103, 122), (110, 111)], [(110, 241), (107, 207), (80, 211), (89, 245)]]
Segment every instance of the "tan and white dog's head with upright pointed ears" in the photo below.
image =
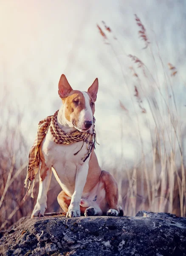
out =
[(63, 102), (63, 113), (70, 127), (86, 132), (93, 125), (95, 101), (98, 92), (98, 79), (88, 88), (87, 92), (73, 90), (65, 75), (59, 80), (59, 96)]

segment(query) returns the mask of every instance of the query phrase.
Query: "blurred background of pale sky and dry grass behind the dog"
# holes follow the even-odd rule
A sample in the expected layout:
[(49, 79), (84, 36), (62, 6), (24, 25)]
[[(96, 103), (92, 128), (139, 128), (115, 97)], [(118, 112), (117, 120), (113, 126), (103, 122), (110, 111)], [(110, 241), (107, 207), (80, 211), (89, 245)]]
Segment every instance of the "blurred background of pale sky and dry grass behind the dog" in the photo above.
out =
[[(186, 216), (186, 1), (0, 1), (0, 230), (31, 215), (23, 201), (38, 122), (99, 79), (96, 154), (124, 215)], [(59, 212), (54, 177), (47, 212)]]

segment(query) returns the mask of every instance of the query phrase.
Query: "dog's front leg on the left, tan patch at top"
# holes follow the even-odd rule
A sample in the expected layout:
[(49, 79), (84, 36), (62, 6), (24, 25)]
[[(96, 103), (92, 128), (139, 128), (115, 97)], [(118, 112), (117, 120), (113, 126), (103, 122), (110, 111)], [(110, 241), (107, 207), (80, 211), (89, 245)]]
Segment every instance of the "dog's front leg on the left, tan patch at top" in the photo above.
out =
[(51, 182), (51, 174), (51, 168), (48, 169), (45, 163), (42, 163), (39, 171), (39, 193), (37, 196), (37, 203), (31, 214), (31, 218), (44, 216), (45, 210), (47, 209), (47, 192)]

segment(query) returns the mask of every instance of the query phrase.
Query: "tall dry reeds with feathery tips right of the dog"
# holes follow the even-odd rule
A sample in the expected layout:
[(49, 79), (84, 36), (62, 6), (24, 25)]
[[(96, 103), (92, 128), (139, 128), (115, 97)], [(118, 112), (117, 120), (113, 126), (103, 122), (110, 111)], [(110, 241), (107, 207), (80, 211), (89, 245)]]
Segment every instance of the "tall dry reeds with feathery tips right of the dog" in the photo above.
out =
[[(127, 166), (124, 166), (121, 172), (117, 173), (112, 170), (110, 172), (113, 172), (113, 175), (118, 180), (120, 194), (122, 195), (121, 204), (123, 204), (125, 215), (135, 215), (136, 212), (144, 209), (154, 212), (172, 212), (180, 216), (186, 216), (186, 172), (184, 169), (182, 140), (185, 134), (181, 133), (171, 80), (172, 77), (178, 76), (178, 71), (176, 67), (168, 63), (167, 66), (170, 73), (167, 72), (159, 51), (154, 53), (147, 31), (137, 15), (135, 15), (135, 20), (140, 28), (138, 31), (139, 37), (145, 44), (143, 48), (143, 50), (146, 49), (144, 54), (150, 53), (155, 66), (158, 59), (161, 64), (164, 83), (160, 87), (157, 71), (152, 70), (151, 72), (141, 59), (131, 54), (128, 55), (132, 61), (132, 67), (130, 67), (132, 71), (131, 81), (134, 82), (134, 94), (131, 95), (131, 102), (133, 103), (138, 124), (139, 114), (135, 108), (134, 98), (141, 113), (145, 115), (144, 119), (151, 134), (151, 151), (148, 155), (148, 159), (151, 161), (148, 161), (147, 164), (141, 127), (138, 125), (141, 162), (135, 164), (133, 169), (128, 169)], [(104, 34), (104, 40), (107, 40), (107, 44), (110, 44), (116, 55), (112, 40), (109, 38), (112, 30), (109, 29), (107, 35), (107, 25), (106, 23), (103, 24), (104, 29), (99, 26), (99, 31), (101, 35)], [(112, 36), (116, 38), (115, 35)], [(118, 63), (122, 72), (123, 67), (119, 59)], [(123, 72), (122, 75), (125, 82), (126, 79)], [(149, 80), (149, 88), (142, 85), (144, 79), (146, 81)], [(151, 91), (150, 96), (146, 93), (146, 90)], [(160, 100), (158, 101), (157, 98)], [(143, 106), (143, 101), (146, 101), (148, 112)], [(130, 110), (124, 106), (122, 100), (120, 101), (120, 108), (123, 114), (130, 118)], [(153, 120), (153, 125), (152, 122), (149, 122), (149, 118)], [(124, 140), (121, 140), (121, 143), (124, 143)], [(177, 163), (178, 161), (179, 164)]]

